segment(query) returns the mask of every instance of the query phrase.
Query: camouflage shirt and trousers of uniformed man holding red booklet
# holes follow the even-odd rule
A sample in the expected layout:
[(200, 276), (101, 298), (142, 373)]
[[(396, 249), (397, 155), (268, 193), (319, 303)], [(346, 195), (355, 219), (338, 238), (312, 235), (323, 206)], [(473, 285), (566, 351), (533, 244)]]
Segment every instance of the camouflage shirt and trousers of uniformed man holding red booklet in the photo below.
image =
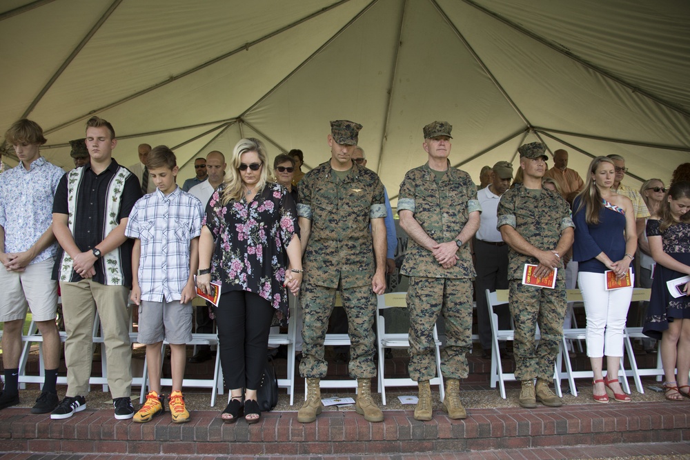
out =
[[(558, 246), (561, 232), (575, 227), (568, 203), (551, 190), (529, 190), (522, 183), (506, 191), (498, 205), (497, 228), (508, 225), (531, 245), (540, 250)], [(543, 380), (553, 378), (553, 362), (559, 352), (566, 310), (565, 270), (562, 262), (556, 276), (555, 289), (522, 284), (525, 263), (538, 264), (535, 257), (509, 252), (509, 301), (515, 323), (515, 378)], [(541, 339), (535, 346), (535, 328), (539, 325)]]

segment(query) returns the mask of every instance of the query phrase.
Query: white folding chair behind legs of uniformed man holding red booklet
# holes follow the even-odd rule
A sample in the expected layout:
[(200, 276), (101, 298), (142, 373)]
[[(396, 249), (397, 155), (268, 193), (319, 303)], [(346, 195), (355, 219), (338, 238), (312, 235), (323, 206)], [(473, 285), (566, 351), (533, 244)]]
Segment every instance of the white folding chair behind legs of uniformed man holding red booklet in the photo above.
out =
[[(493, 312), (493, 307), (501, 305), (503, 303), (508, 303), (508, 290), (500, 289), (495, 292), (490, 292), (486, 290), (486, 307), (489, 308), (489, 321), (491, 321), (491, 335), (493, 340), (493, 346), (491, 347), (491, 388), (496, 388), (496, 383), (500, 386), (501, 397), (506, 399), (506, 381), (516, 381), (515, 372), (503, 372), (503, 363), (501, 361), (501, 353), (498, 348), (500, 341), (514, 341), (515, 332), (512, 329), (499, 329), (498, 328), (498, 315)], [(536, 328), (535, 337), (536, 340), (540, 339), (539, 326)], [(560, 352), (556, 357), (556, 361), (553, 366), (553, 383), (555, 387), (555, 392), (559, 397), (563, 396), (563, 392), (560, 388), (559, 372), (561, 366)]]

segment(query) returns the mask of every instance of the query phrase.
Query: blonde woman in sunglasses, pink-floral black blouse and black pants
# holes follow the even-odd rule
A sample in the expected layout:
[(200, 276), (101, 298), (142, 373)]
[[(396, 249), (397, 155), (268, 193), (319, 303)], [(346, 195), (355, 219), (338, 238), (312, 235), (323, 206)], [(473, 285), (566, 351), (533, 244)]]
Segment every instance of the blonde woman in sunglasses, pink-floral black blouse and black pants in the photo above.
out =
[[(266, 148), (258, 139), (235, 146), (230, 171), (206, 206), (199, 239), (197, 286), (221, 283), (215, 309), (223, 377), (230, 403), (221, 414), (259, 421), (257, 389), (266, 365), (273, 316), (288, 321), (288, 294), (302, 283), (302, 248), (290, 193), (267, 183)], [(244, 391), (244, 407), (243, 394)]]

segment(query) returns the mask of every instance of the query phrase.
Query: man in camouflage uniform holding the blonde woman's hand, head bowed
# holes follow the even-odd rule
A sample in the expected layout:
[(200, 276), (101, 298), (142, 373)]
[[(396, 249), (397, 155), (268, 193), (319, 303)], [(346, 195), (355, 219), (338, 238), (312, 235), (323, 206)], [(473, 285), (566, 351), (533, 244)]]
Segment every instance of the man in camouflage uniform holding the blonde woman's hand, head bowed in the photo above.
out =
[(384, 419), (371, 399), (371, 379), (376, 377), (376, 294), (386, 289), (386, 206), (379, 177), (352, 161), (360, 129), (353, 121), (331, 121), (331, 160), (299, 182), (297, 214), (304, 252), (299, 374), (307, 379), (307, 398), (297, 412), (302, 423), (315, 421), (321, 413), (319, 382), (328, 370), (324, 339), (336, 290), (348, 316), (349, 371), (357, 379), (355, 410), (367, 421)]

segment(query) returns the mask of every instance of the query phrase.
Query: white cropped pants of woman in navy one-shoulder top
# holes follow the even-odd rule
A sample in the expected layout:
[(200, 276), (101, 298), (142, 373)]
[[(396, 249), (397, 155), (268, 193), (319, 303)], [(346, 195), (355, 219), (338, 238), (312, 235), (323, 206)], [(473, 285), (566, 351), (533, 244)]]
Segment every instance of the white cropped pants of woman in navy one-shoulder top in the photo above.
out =
[(580, 272), (578, 286), (587, 316), (587, 356), (601, 358), (606, 354), (622, 357), (623, 328), (633, 288), (607, 291), (604, 274), (592, 272)]

